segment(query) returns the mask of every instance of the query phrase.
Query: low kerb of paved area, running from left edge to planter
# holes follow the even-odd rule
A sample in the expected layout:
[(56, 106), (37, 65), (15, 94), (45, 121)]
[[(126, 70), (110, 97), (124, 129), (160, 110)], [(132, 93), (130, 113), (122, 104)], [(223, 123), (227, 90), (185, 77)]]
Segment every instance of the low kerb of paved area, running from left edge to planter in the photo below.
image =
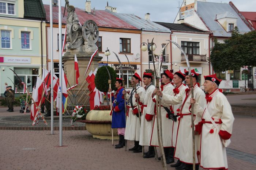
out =
[[(59, 131), (60, 127), (53, 127), (54, 131)], [(0, 127), (0, 130), (25, 130), (25, 131), (50, 131), (51, 127)], [(63, 131), (71, 131), (71, 130), (76, 130), (76, 131), (82, 131), (86, 130), (85, 126), (65, 126), (62, 127)]]

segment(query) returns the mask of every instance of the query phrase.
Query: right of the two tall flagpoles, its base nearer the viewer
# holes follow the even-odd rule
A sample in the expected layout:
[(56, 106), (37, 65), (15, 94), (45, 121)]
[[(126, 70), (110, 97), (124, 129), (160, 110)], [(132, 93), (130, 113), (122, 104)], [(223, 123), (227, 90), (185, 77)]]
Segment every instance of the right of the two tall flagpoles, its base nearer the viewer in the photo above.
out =
[(59, 119), (60, 119), (60, 146), (62, 146), (62, 32), (61, 32), (61, 1), (59, 0), (59, 97), (60, 97), (60, 108), (59, 108)]

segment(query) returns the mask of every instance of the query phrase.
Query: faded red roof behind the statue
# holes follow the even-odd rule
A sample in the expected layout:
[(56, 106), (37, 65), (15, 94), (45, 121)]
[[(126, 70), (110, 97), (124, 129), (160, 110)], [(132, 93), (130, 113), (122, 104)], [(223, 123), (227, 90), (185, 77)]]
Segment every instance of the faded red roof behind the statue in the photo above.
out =
[[(44, 5), (45, 13), (46, 13), (46, 22), (50, 22), (50, 5)], [(53, 23), (59, 23), (59, 7), (53, 6)], [(139, 30), (127, 22), (117, 18), (111, 13), (103, 10), (95, 10), (95, 15), (86, 13), (84, 10), (75, 8), (76, 15), (78, 16), (79, 22), (83, 25), (87, 20), (94, 20), (94, 22), (98, 25), (98, 27), (108, 27), (108, 28), (121, 28), (121, 29), (131, 29), (131, 30)], [(61, 22), (63, 24), (66, 23), (67, 19), (67, 8), (65, 11), (65, 16), (63, 18), (64, 7), (61, 7)], [(91, 10), (93, 13), (93, 10)]]

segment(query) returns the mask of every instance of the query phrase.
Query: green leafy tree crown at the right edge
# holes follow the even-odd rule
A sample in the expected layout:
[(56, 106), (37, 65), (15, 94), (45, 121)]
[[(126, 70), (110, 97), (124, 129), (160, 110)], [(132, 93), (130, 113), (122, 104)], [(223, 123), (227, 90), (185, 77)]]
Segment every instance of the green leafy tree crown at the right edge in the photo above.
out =
[(224, 40), (224, 43), (214, 39), (209, 61), (215, 71), (256, 66), (256, 31), (240, 34), (235, 27), (231, 38)]

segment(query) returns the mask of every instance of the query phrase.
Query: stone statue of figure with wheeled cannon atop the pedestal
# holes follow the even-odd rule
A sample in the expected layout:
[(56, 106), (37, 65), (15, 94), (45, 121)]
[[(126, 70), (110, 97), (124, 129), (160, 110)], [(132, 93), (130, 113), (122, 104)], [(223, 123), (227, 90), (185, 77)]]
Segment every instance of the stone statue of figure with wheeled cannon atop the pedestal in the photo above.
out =
[[(93, 20), (87, 20), (83, 26), (80, 25), (75, 7), (67, 6), (67, 30), (66, 30), (66, 52), (86, 52), (93, 53), (97, 47), (95, 43), (99, 38), (99, 29)], [(69, 53), (68, 53), (69, 54)]]

